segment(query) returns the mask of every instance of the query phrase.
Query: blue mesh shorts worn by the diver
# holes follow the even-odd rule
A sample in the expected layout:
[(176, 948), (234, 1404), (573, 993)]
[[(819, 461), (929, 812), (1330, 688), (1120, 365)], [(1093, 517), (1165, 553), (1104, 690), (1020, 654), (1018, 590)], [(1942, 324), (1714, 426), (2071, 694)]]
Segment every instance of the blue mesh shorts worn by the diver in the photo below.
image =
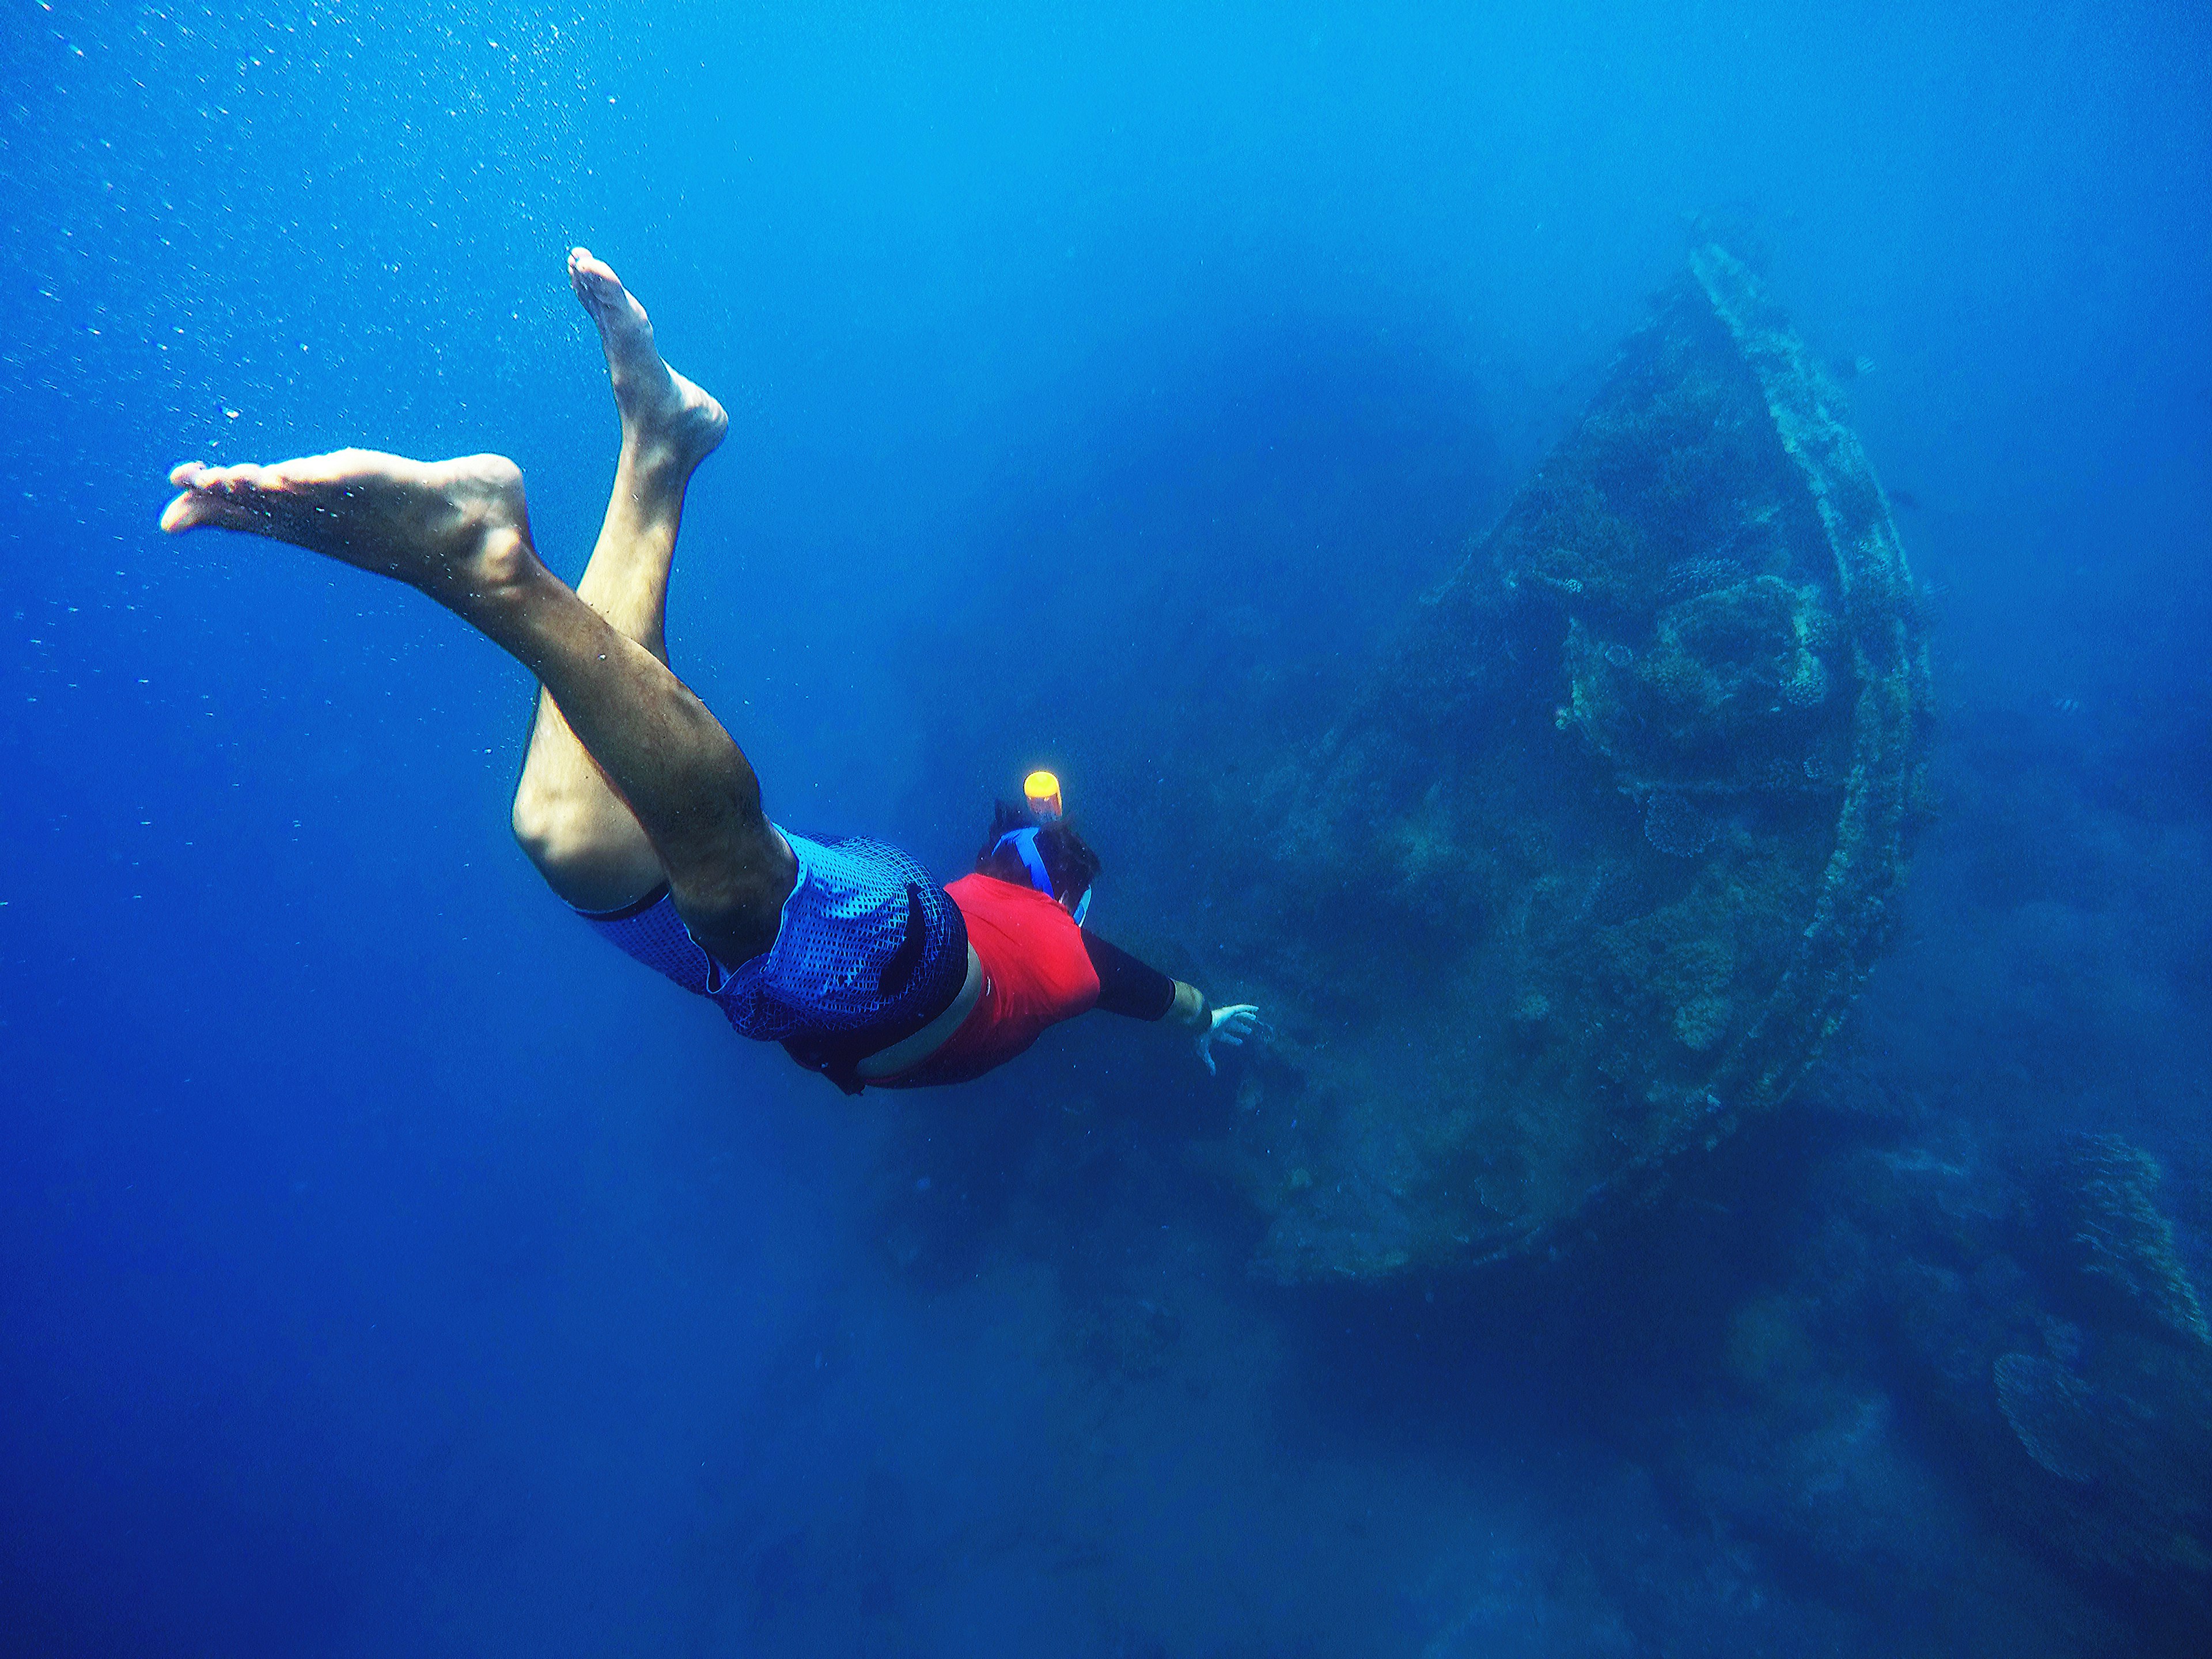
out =
[(637, 905), (577, 911), (602, 938), (710, 998), (739, 1035), (781, 1042), (814, 1071), (885, 1048), (936, 1020), (967, 980), (967, 922), (898, 847), (783, 830), (799, 880), (776, 942), (734, 969), (699, 945), (664, 887)]

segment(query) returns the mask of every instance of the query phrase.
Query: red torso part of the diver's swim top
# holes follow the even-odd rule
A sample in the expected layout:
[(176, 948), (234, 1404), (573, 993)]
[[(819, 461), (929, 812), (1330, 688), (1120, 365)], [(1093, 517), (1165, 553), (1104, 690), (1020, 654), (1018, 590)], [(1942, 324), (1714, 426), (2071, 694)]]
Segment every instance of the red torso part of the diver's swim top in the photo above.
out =
[(960, 907), (982, 962), (982, 995), (960, 1029), (900, 1084), (958, 1084), (1022, 1053), (1046, 1026), (1088, 1013), (1099, 1000), (1084, 931), (1033, 887), (998, 876), (962, 876), (945, 887)]

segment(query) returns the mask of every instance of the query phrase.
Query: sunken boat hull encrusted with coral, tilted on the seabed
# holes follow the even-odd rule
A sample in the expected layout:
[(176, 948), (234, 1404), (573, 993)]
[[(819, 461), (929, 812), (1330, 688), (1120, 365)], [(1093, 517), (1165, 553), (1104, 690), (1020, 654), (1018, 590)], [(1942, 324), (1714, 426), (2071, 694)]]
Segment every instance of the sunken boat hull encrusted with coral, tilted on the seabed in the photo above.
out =
[(1263, 1272), (1551, 1245), (1778, 1102), (1851, 1004), (1927, 664), (1838, 398), (1719, 248), (1318, 748), (1241, 896)]

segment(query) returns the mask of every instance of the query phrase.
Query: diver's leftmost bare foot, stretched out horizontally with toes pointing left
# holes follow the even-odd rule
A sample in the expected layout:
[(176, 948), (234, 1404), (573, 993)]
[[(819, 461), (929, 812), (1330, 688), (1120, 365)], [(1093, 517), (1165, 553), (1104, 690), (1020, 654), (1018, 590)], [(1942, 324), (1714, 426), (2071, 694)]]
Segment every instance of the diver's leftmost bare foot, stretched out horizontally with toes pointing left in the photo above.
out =
[(168, 533), (212, 526), (305, 546), (422, 588), (451, 606), (500, 588), (535, 560), (522, 469), (507, 456), (407, 460), (376, 449), (274, 467), (170, 471)]

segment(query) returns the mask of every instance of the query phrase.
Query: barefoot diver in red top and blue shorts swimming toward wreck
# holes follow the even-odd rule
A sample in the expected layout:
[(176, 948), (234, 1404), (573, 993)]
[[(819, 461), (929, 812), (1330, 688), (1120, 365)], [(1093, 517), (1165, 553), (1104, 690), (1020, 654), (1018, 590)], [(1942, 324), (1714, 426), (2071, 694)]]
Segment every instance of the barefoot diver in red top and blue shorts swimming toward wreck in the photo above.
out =
[(568, 283), (622, 414), (575, 588), (538, 560), (504, 456), (186, 462), (161, 529), (246, 531), (394, 577), (513, 655), (540, 686), (513, 830), (546, 885), (845, 1093), (980, 1077), (1093, 1006), (1192, 1033), (1214, 1071), (1214, 1044), (1241, 1044), (1259, 1011), (1214, 1009), (1084, 927), (1099, 860), (1048, 772), (1024, 785), (1026, 810), (995, 807), (975, 872), (949, 887), (896, 847), (768, 821), (752, 763), (670, 672), (664, 635), (684, 491), (730, 420), (661, 361), (646, 310), (591, 250), (571, 250)]

